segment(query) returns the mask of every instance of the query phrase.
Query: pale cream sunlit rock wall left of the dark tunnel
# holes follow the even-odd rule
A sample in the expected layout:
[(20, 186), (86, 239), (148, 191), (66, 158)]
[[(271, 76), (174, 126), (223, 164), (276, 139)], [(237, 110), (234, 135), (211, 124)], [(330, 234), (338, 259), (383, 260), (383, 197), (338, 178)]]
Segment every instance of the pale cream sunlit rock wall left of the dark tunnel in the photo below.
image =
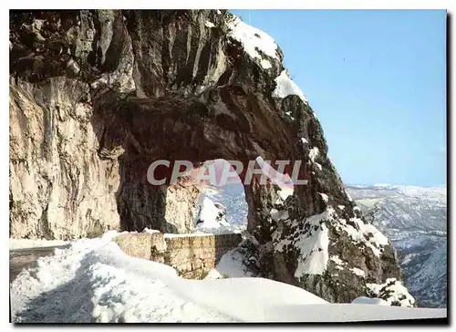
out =
[(88, 84), (10, 84), (10, 234), (71, 239), (119, 227), (119, 162), (99, 158)]

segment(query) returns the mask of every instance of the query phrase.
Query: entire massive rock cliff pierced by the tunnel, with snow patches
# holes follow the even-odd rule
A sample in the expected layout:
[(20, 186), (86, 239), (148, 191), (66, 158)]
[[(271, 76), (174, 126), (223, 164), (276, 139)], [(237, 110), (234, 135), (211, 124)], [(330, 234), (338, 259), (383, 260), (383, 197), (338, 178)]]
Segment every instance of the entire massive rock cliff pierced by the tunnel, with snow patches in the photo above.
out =
[(10, 235), (189, 230), (192, 192), (151, 185), (150, 163), (261, 156), (306, 185), (245, 185), (249, 264), (331, 302), (399, 280), (282, 59), (225, 11), (11, 12)]

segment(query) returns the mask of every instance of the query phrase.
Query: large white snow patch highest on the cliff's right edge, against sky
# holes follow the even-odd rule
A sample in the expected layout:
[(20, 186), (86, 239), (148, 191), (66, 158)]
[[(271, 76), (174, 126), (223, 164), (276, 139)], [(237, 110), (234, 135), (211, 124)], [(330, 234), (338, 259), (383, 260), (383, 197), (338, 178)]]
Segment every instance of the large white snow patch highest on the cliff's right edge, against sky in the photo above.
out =
[(249, 26), (237, 16), (234, 16), (233, 20), (228, 23), (228, 28), (231, 30), (228, 36), (240, 42), (249, 57), (259, 59), (264, 69), (271, 68), (272, 66), (269, 60), (262, 57), (258, 50), (268, 57), (279, 60), (275, 40), (260, 29)]

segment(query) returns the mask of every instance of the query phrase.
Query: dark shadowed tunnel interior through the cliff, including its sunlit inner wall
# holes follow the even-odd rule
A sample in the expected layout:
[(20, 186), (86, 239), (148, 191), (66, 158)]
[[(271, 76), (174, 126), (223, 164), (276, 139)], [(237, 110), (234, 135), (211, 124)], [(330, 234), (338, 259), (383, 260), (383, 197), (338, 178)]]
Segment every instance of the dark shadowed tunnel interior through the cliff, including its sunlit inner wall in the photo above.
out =
[[(183, 161), (193, 170), (206, 161), (241, 163), (244, 184), (230, 187), (243, 192), (244, 186), (247, 229), (261, 228), (263, 220), (269, 218), (277, 188), (271, 183), (261, 184), (258, 174), (252, 174), (248, 181), (244, 177), (252, 163), (258, 168), (258, 158), (271, 162), (289, 159), (270, 129), (259, 135), (258, 130), (242, 130), (240, 123), (226, 127), (227, 122), (220, 119), (223, 114), (213, 114), (207, 106), (211, 103), (201, 101), (204, 96), (138, 99), (103, 88), (102, 83), (94, 89), (91, 120), (98, 135), (98, 155), (119, 161), (116, 197), (122, 231), (149, 228), (162, 233), (193, 232), (193, 202), (202, 187), (182, 176), (179, 181), (173, 178), (172, 170)], [(152, 184), (150, 167), (160, 161), (166, 162), (154, 169), (152, 178), (163, 183)]]

